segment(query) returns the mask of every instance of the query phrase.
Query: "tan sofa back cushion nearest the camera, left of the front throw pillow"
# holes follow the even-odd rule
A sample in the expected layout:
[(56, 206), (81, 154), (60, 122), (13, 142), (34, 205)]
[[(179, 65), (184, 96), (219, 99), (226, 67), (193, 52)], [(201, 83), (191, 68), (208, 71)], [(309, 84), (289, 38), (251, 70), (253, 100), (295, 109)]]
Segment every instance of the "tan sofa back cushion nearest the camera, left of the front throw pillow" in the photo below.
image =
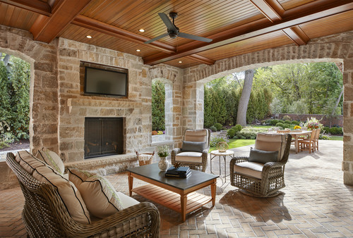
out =
[(47, 182), (56, 187), (59, 196), (68, 210), (68, 214), (71, 215), (73, 220), (82, 224), (90, 224), (90, 213), (85, 206), (80, 192), (72, 182), (64, 179), (64, 177), (56, 173), (49, 166), (36, 168), (33, 172), (33, 177), (40, 182)]

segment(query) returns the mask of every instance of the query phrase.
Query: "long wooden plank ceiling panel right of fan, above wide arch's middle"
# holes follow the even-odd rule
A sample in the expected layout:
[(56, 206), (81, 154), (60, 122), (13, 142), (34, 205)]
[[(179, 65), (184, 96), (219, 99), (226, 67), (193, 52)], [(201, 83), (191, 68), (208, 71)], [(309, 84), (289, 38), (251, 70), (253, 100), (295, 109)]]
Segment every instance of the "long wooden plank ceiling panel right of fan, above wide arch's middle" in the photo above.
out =
[(261, 51), (263, 49), (275, 48), (286, 44), (294, 44), (294, 42), (286, 37), (282, 31), (277, 31), (232, 44), (227, 44), (225, 46), (220, 46), (208, 51), (203, 51), (199, 54), (207, 58), (213, 58), (217, 61), (222, 58), (229, 58), (254, 51)]

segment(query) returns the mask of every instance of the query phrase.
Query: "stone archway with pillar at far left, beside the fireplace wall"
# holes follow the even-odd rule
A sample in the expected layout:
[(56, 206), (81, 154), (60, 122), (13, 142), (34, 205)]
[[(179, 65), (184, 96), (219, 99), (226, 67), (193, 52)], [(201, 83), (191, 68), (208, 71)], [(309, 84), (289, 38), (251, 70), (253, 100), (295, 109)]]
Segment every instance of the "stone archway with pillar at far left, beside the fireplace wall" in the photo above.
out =
[(0, 35), (4, 39), (0, 51), (30, 63), (30, 150), (36, 154), (45, 146), (58, 152), (57, 41), (35, 42), (30, 32), (4, 25), (0, 26)]

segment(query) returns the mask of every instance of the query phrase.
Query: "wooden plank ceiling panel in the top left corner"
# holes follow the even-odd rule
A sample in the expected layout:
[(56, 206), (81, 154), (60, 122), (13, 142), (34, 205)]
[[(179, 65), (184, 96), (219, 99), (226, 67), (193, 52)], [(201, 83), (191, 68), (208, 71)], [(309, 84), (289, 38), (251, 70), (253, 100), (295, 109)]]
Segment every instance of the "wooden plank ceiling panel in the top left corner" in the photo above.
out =
[(0, 25), (30, 30), (39, 14), (0, 3)]

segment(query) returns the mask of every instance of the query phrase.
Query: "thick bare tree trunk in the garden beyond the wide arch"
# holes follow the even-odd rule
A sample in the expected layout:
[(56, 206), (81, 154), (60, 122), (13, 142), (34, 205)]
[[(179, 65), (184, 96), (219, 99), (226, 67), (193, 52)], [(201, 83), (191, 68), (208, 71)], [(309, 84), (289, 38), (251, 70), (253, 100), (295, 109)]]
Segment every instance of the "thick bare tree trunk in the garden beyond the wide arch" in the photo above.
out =
[(246, 70), (244, 78), (244, 86), (241, 91), (239, 99), (237, 124), (246, 126), (246, 111), (248, 111), (248, 104), (250, 99), (251, 87), (253, 85), (253, 73), (255, 70)]

